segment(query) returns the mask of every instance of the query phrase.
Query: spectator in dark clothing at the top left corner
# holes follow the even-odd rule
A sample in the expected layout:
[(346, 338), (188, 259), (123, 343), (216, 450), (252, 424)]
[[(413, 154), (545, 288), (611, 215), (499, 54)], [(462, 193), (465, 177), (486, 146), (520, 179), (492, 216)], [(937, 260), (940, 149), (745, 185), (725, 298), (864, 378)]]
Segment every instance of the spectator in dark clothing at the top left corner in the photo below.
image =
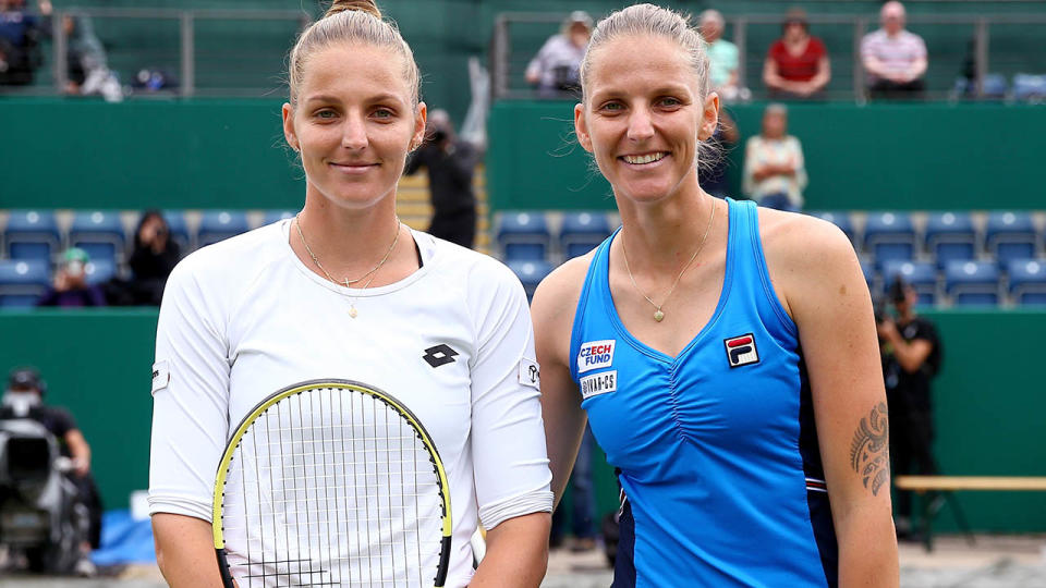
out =
[(42, 63), (40, 41), (50, 32), (51, 2), (39, 0), (40, 15), (25, 0), (0, 0), (0, 86), (25, 86)]

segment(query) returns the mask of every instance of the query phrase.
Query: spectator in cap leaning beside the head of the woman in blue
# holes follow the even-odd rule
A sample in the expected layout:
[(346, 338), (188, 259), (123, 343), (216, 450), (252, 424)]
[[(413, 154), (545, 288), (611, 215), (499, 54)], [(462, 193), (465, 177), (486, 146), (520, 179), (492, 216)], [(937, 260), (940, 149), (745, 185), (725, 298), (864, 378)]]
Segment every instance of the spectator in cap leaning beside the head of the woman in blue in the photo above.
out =
[(592, 16), (575, 10), (558, 35), (549, 37), (526, 66), (526, 82), (545, 97), (573, 95), (579, 88), (577, 65), (592, 36)]

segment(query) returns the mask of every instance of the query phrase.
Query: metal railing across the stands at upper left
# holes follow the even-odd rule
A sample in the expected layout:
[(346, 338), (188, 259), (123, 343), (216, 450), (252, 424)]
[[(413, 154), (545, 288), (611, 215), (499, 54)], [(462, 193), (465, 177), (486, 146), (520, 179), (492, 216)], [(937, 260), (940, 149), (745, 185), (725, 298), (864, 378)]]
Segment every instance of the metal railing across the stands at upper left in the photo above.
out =
[[(255, 22), (255, 21), (269, 21), (269, 22), (284, 22), (293, 23), (294, 33), (302, 30), (312, 22), (312, 15), (303, 11), (279, 11), (279, 10), (215, 10), (215, 9), (199, 9), (199, 10), (177, 10), (177, 9), (134, 9), (134, 8), (68, 8), (58, 10), (56, 9), (52, 15), (50, 16), (50, 74), (51, 74), (51, 84), (49, 85), (35, 85), (22, 88), (12, 88), (12, 87), (0, 87), (0, 91), (7, 90), (7, 93), (17, 93), (17, 94), (63, 94), (65, 91), (66, 83), (69, 82), (69, 61), (68, 61), (68, 48), (69, 48), (69, 37), (65, 33), (63, 26), (63, 20), (65, 16), (87, 16), (94, 20), (96, 23), (112, 24), (117, 21), (143, 21), (150, 23), (151, 26), (156, 26), (159, 23), (167, 23), (168, 25), (173, 24), (178, 29), (177, 35), (177, 47), (170, 47), (170, 49), (177, 49), (177, 61), (178, 61), (178, 88), (174, 90), (174, 94), (191, 97), (200, 94), (207, 95), (260, 95), (268, 91), (271, 91), (272, 87), (243, 87), (235, 85), (212, 85), (212, 86), (200, 86), (197, 78), (197, 63), (199, 54), (197, 52), (198, 47), (198, 32), (197, 25), (202, 22), (218, 22), (218, 21), (229, 21), (233, 23), (244, 23), (244, 22)], [(148, 26), (148, 25), (143, 25)], [(97, 27), (97, 24), (96, 24)], [(102, 35), (98, 35), (102, 46), (110, 48), (112, 42), (120, 42), (120, 39), (108, 38)], [(214, 39), (212, 39), (214, 40)], [(280, 39), (279, 47), (272, 47), (273, 52), (279, 52), (283, 56), (290, 49), (291, 44), (293, 42), (293, 36), (288, 35), (288, 38)], [(275, 45), (275, 44), (273, 44)], [(130, 54), (133, 56), (135, 50), (141, 50), (142, 48), (135, 47), (125, 47), (125, 51), (130, 51)], [(268, 48), (267, 48), (268, 49)], [(281, 58), (282, 59), (282, 58)], [(112, 59), (110, 59), (110, 62)], [(254, 64), (257, 66), (257, 64)], [(272, 68), (268, 68), (272, 65)], [(282, 63), (265, 63), (266, 69), (272, 69), (278, 71)], [(118, 68), (111, 68), (117, 70)], [(234, 73), (234, 72), (227, 72)], [(216, 77), (221, 77), (217, 75)], [(171, 94), (171, 93), (167, 93)]]

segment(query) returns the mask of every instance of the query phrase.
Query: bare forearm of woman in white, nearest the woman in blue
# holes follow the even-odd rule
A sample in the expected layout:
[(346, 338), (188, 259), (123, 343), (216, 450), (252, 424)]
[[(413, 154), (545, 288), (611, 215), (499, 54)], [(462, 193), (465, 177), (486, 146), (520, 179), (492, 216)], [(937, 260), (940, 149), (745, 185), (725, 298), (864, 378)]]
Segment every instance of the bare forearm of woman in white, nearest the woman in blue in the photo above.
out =
[(471, 588), (537, 588), (548, 567), (549, 513), (510, 518), (487, 531), (487, 554)]

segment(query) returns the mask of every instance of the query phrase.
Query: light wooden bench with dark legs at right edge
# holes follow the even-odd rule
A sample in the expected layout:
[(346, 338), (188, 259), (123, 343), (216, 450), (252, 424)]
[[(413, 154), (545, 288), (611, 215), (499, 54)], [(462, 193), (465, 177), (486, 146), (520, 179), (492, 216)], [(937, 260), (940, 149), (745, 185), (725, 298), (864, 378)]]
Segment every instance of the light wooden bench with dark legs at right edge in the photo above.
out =
[[(927, 492), (944, 492), (945, 498), (951, 502), (952, 511), (959, 526), (966, 534), (970, 542), (973, 542), (973, 535), (970, 532), (970, 526), (966, 525), (965, 516), (959, 504), (954, 502), (951, 492), (956, 490), (976, 490), (976, 491), (1046, 491), (1046, 477), (1024, 477), (1024, 476), (898, 476), (893, 478), (893, 485), (899, 490), (911, 490), (919, 494)], [(926, 551), (932, 551), (933, 530), (932, 522), (936, 515), (934, 500), (924, 499), (923, 501), (923, 539), (926, 544)]]

